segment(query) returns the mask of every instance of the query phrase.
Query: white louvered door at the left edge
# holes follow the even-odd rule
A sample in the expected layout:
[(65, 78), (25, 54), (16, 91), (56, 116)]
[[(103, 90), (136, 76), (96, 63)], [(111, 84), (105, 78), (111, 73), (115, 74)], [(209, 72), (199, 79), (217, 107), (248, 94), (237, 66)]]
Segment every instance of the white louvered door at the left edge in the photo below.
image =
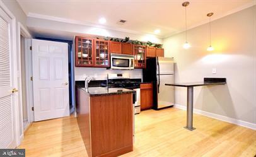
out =
[(11, 49), (11, 19), (0, 8), (0, 149), (15, 148), (14, 58)]

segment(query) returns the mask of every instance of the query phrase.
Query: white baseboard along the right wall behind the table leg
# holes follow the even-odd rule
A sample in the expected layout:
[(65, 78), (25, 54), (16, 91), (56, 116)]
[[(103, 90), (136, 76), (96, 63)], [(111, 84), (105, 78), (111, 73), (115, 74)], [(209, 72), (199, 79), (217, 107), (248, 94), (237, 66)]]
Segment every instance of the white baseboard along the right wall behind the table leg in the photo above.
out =
[[(187, 110), (187, 107), (183, 106), (183, 105), (178, 105), (175, 104), (173, 107), (175, 108), (179, 108), (181, 110)], [(199, 109), (194, 108), (193, 113), (197, 113), (199, 115), (204, 115), (206, 117), (211, 117), (212, 119), (218, 119), (224, 122), (229, 122), (231, 124), (236, 124), (242, 127), (247, 127), (249, 129), (253, 129), (256, 130), (256, 124), (250, 123), (250, 122), (245, 122), (243, 120), (238, 120), (238, 119), (233, 119), (230, 117), (226, 117), (224, 115), (218, 115), (216, 113), (211, 113), (211, 112), (206, 112), (206, 111), (202, 111)]]

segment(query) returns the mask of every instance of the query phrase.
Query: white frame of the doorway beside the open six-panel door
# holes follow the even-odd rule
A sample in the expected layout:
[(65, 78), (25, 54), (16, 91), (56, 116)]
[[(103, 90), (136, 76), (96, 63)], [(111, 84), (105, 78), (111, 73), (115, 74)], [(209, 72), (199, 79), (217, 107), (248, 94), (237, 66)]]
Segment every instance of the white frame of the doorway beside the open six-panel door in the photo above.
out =
[[(31, 110), (30, 110), (30, 106), (31, 106), (31, 99), (33, 100), (33, 91), (30, 90), (32, 81), (30, 81), (30, 69), (32, 69), (32, 60), (30, 60), (30, 55), (31, 54), (31, 50), (29, 49), (30, 44), (29, 44), (29, 40), (31, 40), (32, 36), (30, 35), (30, 33), (28, 32), (28, 30), (26, 30), (25, 26), (23, 26), (20, 22), (18, 22), (18, 51), (17, 51), (17, 61), (18, 61), (18, 69), (17, 69), (17, 73), (18, 73), (18, 82), (20, 84), (20, 86), (18, 86), (19, 89), (19, 104), (21, 105), (20, 109), (19, 109), (19, 115), (20, 115), (20, 125), (21, 127), (21, 132), (20, 132), (20, 141), (23, 139), (24, 137), (24, 128), (23, 128), (23, 101), (22, 101), (22, 81), (21, 81), (21, 40), (20, 40), (20, 36), (22, 35), (25, 38), (25, 60), (27, 62), (25, 62), (25, 71), (26, 71), (26, 100), (27, 100), (27, 114), (28, 114), (28, 125), (30, 125), (30, 123), (32, 122), (31, 120)], [(32, 89), (33, 90), (33, 89)], [(32, 95), (31, 95), (32, 94)], [(33, 103), (32, 103), (33, 104)]]

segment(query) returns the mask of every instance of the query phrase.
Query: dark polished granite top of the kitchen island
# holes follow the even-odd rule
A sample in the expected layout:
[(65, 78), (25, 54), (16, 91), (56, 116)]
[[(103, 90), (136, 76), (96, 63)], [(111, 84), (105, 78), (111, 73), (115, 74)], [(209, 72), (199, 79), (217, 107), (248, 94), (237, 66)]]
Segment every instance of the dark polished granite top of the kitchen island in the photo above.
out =
[(86, 91), (90, 96), (105, 96), (105, 95), (121, 95), (127, 93), (134, 93), (134, 90), (128, 90), (125, 88), (107, 88), (107, 87), (89, 87), (81, 88)]

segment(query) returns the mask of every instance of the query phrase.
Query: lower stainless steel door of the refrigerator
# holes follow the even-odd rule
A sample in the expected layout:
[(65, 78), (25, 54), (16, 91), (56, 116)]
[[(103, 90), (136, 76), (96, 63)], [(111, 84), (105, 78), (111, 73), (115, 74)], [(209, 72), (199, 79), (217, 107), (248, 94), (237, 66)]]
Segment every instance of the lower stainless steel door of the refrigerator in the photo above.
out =
[(159, 75), (158, 79), (158, 108), (174, 105), (174, 87), (165, 86), (165, 83), (174, 83), (174, 75)]

